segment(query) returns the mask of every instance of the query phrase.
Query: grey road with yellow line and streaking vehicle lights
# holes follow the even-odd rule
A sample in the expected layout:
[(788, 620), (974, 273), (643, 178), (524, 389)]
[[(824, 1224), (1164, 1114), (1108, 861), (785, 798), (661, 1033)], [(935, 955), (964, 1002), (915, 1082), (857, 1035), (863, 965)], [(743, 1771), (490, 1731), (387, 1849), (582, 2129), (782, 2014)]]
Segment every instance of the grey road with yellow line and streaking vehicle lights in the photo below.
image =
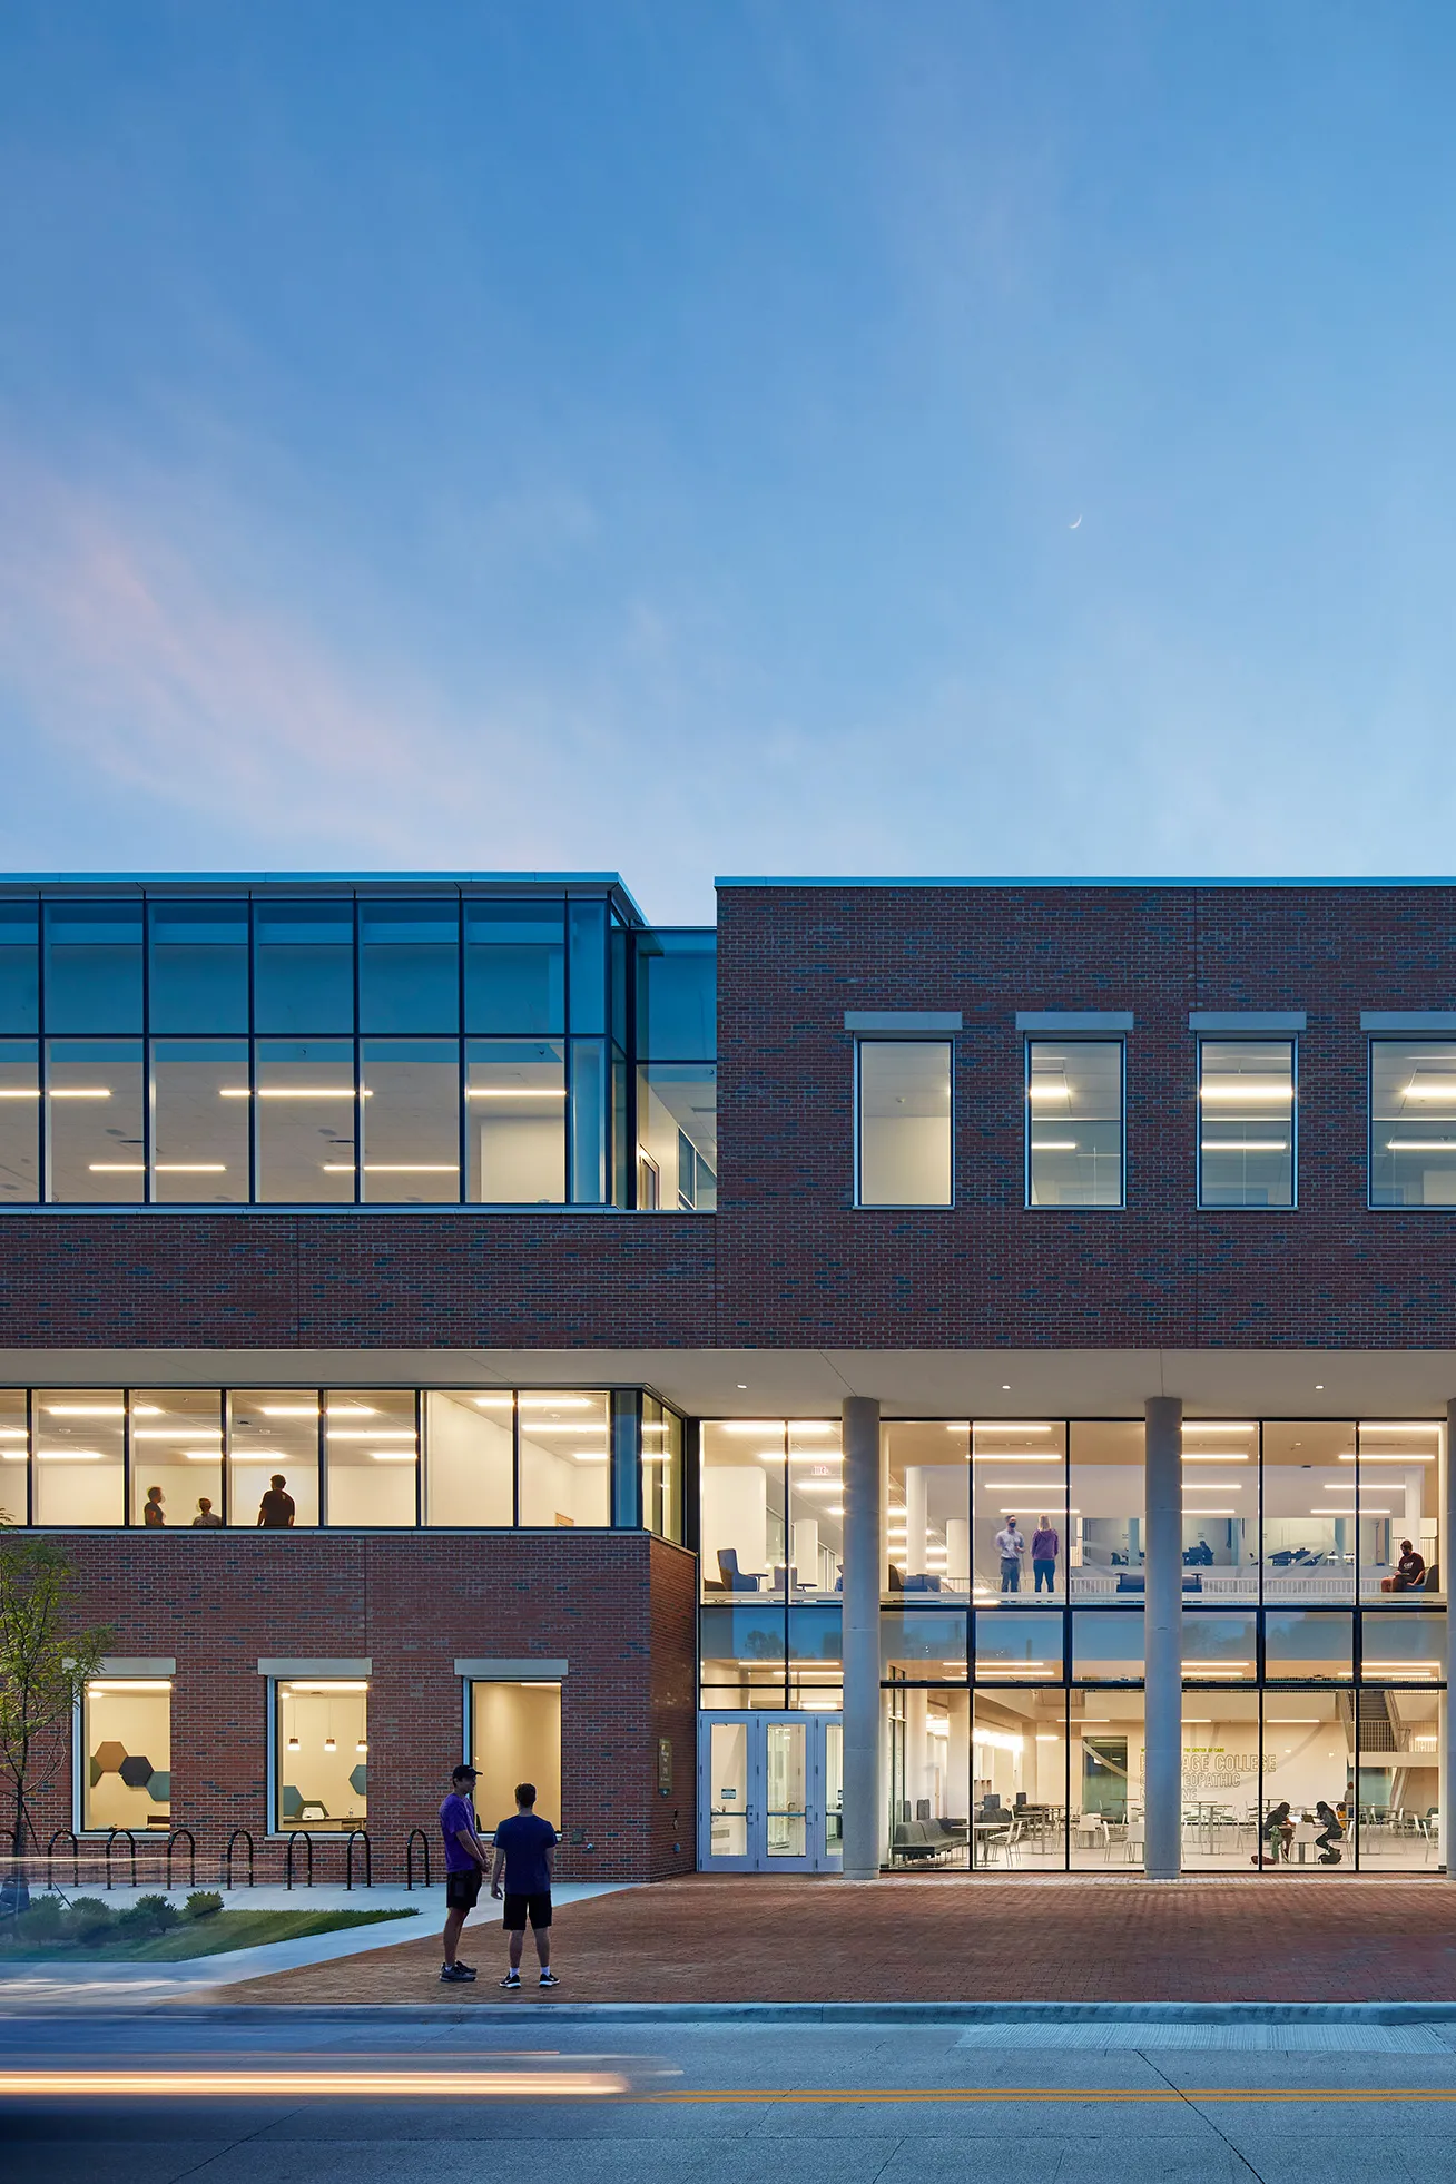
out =
[[(244, 2025), (188, 2011), (0, 2020), (0, 2175), (7, 2184), (1456, 2180), (1456, 2025), (1246, 2035), (1131, 2025), (971, 2033), (644, 2025), (602, 2035), (552, 2018), (522, 2009), (513, 2025), (493, 2014), (467, 2025), (391, 2022), (358, 2011), (327, 2022), (266, 2009)], [(179, 2094), (179, 2073), (196, 2070), (210, 2090)], [(50, 2073), (55, 2081), (37, 2086)], [(258, 2090), (238, 2092), (238, 2073)], [(111, 2088), (116, 2075), (127, 2092)], [(138, 2075), (151, 2090), (131, 2090)], [(605, 2090), (613, 2086), (624, 2090)]]

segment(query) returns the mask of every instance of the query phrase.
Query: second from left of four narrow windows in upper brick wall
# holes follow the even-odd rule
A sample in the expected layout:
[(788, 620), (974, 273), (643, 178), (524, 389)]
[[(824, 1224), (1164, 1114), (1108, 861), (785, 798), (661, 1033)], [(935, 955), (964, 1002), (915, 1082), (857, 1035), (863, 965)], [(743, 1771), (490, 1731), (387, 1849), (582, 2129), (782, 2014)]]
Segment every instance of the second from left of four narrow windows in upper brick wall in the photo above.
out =
[(1122, 1206), (1122, 1040), (1026, 1042), (1026, 1203)]

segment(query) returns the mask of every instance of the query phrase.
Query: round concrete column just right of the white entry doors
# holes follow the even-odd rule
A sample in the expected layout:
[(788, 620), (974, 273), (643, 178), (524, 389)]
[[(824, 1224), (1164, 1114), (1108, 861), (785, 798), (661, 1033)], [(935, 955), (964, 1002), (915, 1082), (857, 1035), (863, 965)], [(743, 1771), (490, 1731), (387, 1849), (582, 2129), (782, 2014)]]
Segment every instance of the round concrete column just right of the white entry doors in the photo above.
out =
[(880, 1404), (845, 1398), (845, 1878), (880, 1872)]

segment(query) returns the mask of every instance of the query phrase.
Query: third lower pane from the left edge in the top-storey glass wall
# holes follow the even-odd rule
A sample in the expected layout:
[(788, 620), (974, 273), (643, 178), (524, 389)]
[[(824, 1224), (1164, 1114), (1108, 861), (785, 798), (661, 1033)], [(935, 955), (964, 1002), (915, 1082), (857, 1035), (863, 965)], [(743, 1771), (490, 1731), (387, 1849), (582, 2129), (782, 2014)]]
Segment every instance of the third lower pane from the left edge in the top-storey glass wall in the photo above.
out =
[(153, 1203), (247, 1203), (247, 1040), (153, 1040)]

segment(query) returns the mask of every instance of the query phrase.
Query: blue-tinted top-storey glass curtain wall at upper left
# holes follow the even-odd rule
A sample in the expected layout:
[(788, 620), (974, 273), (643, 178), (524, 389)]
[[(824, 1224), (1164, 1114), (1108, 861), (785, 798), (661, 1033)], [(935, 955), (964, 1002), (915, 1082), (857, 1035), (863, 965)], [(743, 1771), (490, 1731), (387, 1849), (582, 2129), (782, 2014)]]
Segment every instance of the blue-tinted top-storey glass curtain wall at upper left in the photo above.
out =
[(605, 893), (4, 902), (0, 1206), (629, 1206), (640, 1107), (712, 1210), (714, 968)]

